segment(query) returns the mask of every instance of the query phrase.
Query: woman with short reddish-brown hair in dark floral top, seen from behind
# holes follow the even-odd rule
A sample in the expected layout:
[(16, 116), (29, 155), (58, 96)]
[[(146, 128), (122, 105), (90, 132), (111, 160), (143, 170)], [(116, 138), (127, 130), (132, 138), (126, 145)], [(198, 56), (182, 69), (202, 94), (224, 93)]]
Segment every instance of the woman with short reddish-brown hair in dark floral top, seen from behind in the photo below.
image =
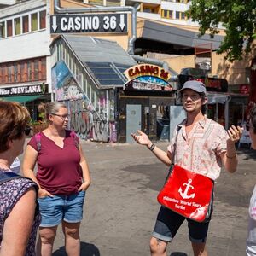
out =
[[(11, 163), (23, 152), (25, 137), (30, 131), (27, 126), (29, 119), (27, 109), (19, 103), (0, 101), (1, 256), (36, 255), (35, 242), (40, 223), (38, 185), (28, 178), (10, 175)], [(1, 182), (3, 176), (10, 179)]]

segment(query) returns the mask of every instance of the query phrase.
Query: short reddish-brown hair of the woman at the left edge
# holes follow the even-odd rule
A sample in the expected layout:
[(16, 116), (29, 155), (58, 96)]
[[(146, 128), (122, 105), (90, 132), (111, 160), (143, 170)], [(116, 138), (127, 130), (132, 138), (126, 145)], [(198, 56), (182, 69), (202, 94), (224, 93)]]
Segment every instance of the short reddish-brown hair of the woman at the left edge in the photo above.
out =
[(9, 140), (23, 136), (30, 114), (18, 102), (0, 101), (0, 120), (0, 153), (3, 153), (9, 149)]

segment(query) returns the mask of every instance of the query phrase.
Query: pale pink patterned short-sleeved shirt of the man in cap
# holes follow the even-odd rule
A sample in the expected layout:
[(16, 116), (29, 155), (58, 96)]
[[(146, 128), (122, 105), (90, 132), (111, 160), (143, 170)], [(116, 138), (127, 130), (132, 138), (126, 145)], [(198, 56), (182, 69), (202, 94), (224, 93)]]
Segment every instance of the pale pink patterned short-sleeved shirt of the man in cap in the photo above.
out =
[(222, 125), (205, 117), (187, 135), (185, 123), (186, 119), (177, 125), (168, 147), (174, 163), (216, 180), (222, 165), (220, 154), (227, 151), (227, 131)]

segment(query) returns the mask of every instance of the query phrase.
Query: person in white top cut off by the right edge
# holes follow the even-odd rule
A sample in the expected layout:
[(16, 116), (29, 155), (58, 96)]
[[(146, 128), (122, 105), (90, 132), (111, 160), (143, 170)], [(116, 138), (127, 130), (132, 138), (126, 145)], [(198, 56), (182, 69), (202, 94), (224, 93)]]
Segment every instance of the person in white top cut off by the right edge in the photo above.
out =
[[(252, 148), (256, 149), (256, 107), (253, 107), (249, 115), (247, 129), (251, 137)], [(256, 255), (256, 185), (249, 206), (248, 235), (247, 235), (247, 256)]]

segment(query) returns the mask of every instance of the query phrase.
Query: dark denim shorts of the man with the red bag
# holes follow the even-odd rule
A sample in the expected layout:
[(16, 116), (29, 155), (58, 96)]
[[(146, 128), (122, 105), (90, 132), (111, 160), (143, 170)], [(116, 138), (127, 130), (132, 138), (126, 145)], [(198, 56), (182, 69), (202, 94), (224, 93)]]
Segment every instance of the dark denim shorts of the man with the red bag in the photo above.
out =
[(206, 242), (209, 221), (199, 223), (172, 212), (166, 207), (160, 207), (152, 236), (162, 241), (172, 241), (185, 219), (188, 221), (189, 240), (191, 242)]

